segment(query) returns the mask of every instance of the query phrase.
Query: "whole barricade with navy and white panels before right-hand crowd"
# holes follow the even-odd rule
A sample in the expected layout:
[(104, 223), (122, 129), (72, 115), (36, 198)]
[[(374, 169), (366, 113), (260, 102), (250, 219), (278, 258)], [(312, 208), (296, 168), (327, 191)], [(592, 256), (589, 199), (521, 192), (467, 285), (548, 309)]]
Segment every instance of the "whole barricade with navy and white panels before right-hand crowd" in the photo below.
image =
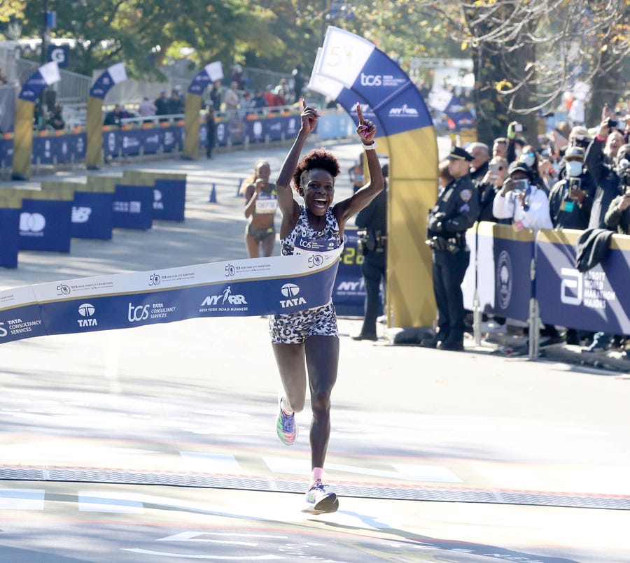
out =
[(526, 322), (529, 357), (538, 357), (540, 322), (590, 332), (630, 334), (630, 236), (613, 234), (603, 262), (577, 271), (582, 231), (479, 222), (466, 234), (470, 265), (462, 284), (473, 311), (475, 341), (483, 313)]

